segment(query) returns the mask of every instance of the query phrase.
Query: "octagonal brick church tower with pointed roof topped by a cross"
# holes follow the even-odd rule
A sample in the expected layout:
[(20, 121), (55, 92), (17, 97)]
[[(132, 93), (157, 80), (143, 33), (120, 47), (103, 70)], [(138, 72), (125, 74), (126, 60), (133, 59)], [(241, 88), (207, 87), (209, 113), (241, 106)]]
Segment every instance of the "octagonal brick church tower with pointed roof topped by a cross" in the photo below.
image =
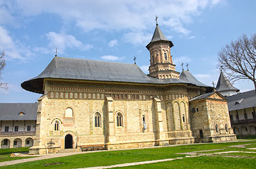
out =
[(173, 42), (166, 39), (158, 27), (156, 18), (156, 30), (153, 33), (151, 42), (146, 46), (150, 52), (149, 76), (158, 79), (179, 79), (180, 73), (175, 71), (173, 56), (170, 55), (170, 48)]

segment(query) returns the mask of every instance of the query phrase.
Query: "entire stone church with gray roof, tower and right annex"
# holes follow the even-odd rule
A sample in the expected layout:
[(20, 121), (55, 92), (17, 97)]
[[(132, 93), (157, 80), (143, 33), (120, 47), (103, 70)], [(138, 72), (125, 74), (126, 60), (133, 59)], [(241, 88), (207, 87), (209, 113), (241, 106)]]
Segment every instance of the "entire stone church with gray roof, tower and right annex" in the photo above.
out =
[(136, 64), (54, 57), (21, 84), (38, 99), (31, 153), (103, 145), (125, 149), (235, 139), (226, 99), (189, 71), (175, 70), (158, 24), (149, 75)]

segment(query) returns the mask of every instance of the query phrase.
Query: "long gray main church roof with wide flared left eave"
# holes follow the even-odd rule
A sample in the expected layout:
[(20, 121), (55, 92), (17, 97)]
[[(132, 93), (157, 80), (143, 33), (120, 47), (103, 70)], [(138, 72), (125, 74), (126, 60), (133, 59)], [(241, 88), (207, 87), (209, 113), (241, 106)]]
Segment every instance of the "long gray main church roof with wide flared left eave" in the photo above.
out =
[[(191, 76), (192, 75), (190, 74), (190, 77)], [(103, 82), (132, 82), (142, 84), (185, 83), (208, 87), (205, 84), (194, 80), (195, 78), (159, 80), (143, 73), (136, 64), (62, 57), (54, 57), (51, 63), (47, 65), (47, 68), (45, 68), (40, 75), (23, 82), (21, 87), (30, 92), (43, 94), (43, 83), (45, 78)]]

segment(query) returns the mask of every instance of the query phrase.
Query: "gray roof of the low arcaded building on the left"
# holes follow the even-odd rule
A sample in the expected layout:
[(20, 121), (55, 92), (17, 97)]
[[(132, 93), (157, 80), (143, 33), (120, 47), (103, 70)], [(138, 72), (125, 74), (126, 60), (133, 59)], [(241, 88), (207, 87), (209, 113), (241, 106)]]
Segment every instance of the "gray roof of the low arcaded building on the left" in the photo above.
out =
[[(19, 115), (23, 112), (24, 115)], [(37, 103), (0, 104), (0, 120), (36, 120)]]

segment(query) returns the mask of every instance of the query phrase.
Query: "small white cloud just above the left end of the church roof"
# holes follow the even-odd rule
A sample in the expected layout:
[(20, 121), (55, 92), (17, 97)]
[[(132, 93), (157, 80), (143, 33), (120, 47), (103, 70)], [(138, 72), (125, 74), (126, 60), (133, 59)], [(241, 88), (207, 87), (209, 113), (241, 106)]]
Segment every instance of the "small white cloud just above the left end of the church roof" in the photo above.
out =
[(76, 37), (72, 35), (66, 35), (64, 33), (56, 33), (56, 32), (48, 32), (46, 34), (47, 39), (50, 41), (49, 46), (52, 48), (57, 47), (57, 49), (60, 49), (60, 53), (64, 53), (66, 48), (78, 48), (81, 51), (86, 51), (93, 46), (91, 44), (83, 44), (83, 42), (78, 41)]

